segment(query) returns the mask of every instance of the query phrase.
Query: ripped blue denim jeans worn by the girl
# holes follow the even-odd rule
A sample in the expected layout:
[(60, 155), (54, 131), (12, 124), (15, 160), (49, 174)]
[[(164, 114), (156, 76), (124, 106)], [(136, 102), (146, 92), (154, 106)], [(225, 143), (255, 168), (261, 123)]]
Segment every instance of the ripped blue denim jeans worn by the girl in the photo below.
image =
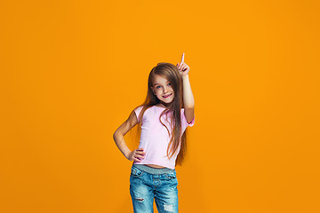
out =
[[(161, 169), (154, 169), (161, 170)], [(176, 171), (153, 174), (132, 166), (130, 194), (134, 213), (153, 213), (153, 201), (159, 213), (178, 212)]]

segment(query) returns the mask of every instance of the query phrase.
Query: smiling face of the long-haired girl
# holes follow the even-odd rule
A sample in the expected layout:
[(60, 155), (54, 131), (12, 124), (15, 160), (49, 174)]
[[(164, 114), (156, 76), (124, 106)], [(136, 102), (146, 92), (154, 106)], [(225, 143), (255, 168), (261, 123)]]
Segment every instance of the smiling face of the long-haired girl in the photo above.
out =
[(167, 104), (171, 103), (174, 99), (171, 83), (161, 75), (154, 75), (151, 90), (164, 106), (167, 106)]

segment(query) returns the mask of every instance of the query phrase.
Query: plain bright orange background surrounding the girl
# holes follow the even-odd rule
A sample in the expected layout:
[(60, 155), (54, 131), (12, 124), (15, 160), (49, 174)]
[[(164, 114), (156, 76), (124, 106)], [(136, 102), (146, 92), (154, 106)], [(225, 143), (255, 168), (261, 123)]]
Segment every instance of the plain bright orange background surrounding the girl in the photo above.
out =
[(0, 8), (1, 212), (132, 212), (132, 162), (112, 134), (151, 68), (182, 52), (196, 124), (180, 212), (320, 212), (317, 1)]

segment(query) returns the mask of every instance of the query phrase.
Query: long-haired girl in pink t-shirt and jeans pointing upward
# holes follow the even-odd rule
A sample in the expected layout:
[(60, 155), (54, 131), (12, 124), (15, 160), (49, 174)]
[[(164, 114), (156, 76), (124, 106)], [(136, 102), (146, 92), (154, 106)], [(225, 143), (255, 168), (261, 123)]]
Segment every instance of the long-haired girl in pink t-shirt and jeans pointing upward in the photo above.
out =
[[(178, 212), (178, 180), (175, 165), (186, 152), (186, 128), (195, 123), (195, 100), (184, 53), (177, 67), (158, 63), (148, 75), (145, 102), (132, 111), (116, 130), (116, 146), (132, 163), (130, 193), (135, 213)], [(184, 107), (183, 107), (184, 106)], [(131, 151), (124, 135), (139, 124), (140, 145)]]

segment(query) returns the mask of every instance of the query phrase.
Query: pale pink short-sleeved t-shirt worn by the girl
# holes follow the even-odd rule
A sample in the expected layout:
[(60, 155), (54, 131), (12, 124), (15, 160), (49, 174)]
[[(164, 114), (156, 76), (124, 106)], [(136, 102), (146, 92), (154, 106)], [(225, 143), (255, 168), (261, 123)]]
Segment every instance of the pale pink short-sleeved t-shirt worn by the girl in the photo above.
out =
[[(172, 170), (175, 168), (175, 161), (179, 154), (180, 146), (169, 159), (167, 156), (167, 148), (170, 142), (168, 130), (170, 130), (170, 133), (172, 133), (171, 125), (170, 122), (166, 121), (165, 114), (161, 117), (161, 121), (168, 128), (168, 130), (159, 121), (160, 114), (164, 111), (164, 109), (165, 108), (161, 106), (151, 106), (143, 114), (139, 148), (143, 148), (146, 155), (144, 159), (141, 159), (141, 162), (133, 162), (133, 164), (156, 164)], [(134, 109), (138, 119), (141, 110), (142, 106)], [(170, 114), (171, 113), (168, 115)], [(193, 126), (195, 124), (195, 117), (190, 123), (188, 123), (184, 114), (184, 108), (181, 108), (180, 116), (181, 130), (183, 134), (188, 126)], [(170, 121), (169, 117), (168, 121)], [(140, 122), (140, 120), (138, 122)]]

